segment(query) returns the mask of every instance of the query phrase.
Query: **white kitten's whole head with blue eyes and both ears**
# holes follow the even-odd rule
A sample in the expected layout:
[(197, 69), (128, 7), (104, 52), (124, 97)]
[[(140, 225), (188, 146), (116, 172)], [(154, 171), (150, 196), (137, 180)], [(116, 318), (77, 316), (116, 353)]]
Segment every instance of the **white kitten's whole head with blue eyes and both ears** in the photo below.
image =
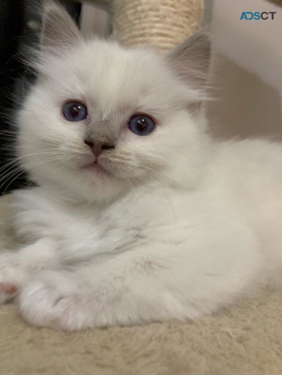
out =
[(205, 152), (199, 103), (210, 43), (197, 33), (169, 55), (85, 39), (48, 3), (39, 78), (18, 113), (22, 164), (66, 195), (111, 199), (150, 181), (192, 186)]

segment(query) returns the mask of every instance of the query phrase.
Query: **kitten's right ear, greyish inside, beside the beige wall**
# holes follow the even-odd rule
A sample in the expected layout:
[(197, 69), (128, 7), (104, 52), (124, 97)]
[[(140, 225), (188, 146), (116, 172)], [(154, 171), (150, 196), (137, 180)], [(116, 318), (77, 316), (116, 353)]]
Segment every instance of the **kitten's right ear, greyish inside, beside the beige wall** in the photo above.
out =
[(210, 35), (200, 30), (174, 48), (167, 59), (182, 80), (197, 90), (205, 88), (211, 59)]

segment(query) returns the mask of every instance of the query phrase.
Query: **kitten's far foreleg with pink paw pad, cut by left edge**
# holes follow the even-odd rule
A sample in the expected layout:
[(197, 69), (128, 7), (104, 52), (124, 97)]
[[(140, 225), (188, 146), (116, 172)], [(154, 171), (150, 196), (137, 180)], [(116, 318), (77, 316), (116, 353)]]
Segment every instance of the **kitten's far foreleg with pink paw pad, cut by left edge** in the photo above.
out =
[(56, 265), (56, 242), (42, 238), (18, 251), (0, 252), (0, 305), (14, 297), (32, 273)]

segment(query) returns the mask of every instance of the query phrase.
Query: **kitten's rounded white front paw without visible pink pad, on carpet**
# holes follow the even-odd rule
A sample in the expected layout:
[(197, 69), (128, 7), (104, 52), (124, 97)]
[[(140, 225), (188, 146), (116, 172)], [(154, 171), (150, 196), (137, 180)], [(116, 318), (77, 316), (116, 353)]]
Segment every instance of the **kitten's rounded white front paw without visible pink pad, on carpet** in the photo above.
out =
[(18, 304), (23, 317), (32, 325), (74, 331), (93, 324), (90, 298), (71, 277), (57, 271), (42, 271), (24, 285)]

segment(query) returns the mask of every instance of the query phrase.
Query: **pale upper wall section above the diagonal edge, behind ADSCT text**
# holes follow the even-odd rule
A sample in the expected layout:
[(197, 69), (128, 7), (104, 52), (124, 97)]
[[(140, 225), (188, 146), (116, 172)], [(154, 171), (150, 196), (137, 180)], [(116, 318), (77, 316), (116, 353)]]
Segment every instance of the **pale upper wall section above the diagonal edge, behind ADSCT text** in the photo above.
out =
[[(274, 11), (274, 19), (240, 20), (242, 11)], [(215, 0), (217, 50), (279, 90), (282, 98), (282, 8), (265, 0)]]

